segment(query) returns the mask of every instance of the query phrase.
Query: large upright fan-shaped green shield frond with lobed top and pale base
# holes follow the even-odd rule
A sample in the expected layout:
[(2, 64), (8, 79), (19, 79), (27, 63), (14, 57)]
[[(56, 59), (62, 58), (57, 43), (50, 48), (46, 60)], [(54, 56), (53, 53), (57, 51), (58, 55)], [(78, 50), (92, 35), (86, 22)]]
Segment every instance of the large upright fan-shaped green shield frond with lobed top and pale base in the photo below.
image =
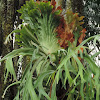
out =
[(21, 19), (29, 24), (33, 31), (32, 34), (36, 35), (39, 45), (46, 54), (55, 53), (60, 49), (54, 31), (59, 24), (60, 11), (52, 12), (52, 9), (53, 6), (50, 6), (50, 2), (38, 4), (30, 1), (18, 10), (19, 13), (22, 13)]

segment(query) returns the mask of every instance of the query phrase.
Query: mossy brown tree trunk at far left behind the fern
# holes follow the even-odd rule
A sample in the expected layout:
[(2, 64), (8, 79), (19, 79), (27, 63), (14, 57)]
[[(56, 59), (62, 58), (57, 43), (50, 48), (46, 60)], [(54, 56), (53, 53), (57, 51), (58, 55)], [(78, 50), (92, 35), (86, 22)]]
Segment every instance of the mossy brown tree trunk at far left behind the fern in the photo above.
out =
[[(1, 0), (1, 23), (0, 23), (0, 54), (4, 57), (7, 53), (11, 52), (13, 49), (13, 41), (9, 42), (7, 45), (4, 45), (4, 41), (7, 35), (13, 30), (14, 28), (14, 21), (15, 21), (15, 12), (14, 12), (14, 0)], [(4, 62), (1, 63), (0, 66), (0, 100), (2, 100), (1, 96), (5, 89), (4, 85)], [(8, 83), (7, 83), (8, 84)], [(11, 99), (9, 99), (11, 100)]]

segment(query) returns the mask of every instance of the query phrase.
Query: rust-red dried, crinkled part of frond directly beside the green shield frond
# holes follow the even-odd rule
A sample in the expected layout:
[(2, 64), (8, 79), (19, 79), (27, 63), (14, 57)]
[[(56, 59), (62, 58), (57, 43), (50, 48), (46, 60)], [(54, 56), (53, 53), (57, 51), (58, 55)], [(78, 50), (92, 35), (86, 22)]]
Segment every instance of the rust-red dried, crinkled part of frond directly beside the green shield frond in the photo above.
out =
[(60, 20), (60, 24), (56, 29), (57, 37), (59, 38), (58, 43), (60, 44), (61, 47), (67, 48), (68, 47), (68, 42), (73, 42), (74, 41), (74, 35), (66, 23), (64, 17), (62, 16)]

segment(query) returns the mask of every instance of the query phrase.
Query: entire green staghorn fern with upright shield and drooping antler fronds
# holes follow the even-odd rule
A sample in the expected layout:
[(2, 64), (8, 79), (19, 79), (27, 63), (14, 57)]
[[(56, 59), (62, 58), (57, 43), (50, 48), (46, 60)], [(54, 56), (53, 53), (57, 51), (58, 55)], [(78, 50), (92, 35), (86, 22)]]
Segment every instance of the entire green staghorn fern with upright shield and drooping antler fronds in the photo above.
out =
[[(64, 17), (61, 15), (61, 8), (56, 9), (55, 0), (53, 1), (50, 4), (50, 2), (35, 3), (30, 0), (18, 11), (21, 13), (21, 19), (27, 24), (22, 24), (20, 29), (12, 32), (20, 33), (20, 35), (16, 35), (16, 41), (19, 42), (21, 48), (13, 50), (0, 60), (0, 62), (4, 60), (6, 62), (5, 82), (8, 73), (14, 77), (14, 80), (17, 80), (12, 58), (21, 55), (29, 57), (30, 61), (28, 65), (24, 66), (25, 70), (21, 80), (10, 84), (5, 89), (3, 98), (10, 86), (19, 84), (14, 100), (73, 100), (74, 98), (76, 100), (99, 100), (100, 68), (93, 61), (93, 57), (100, 52), (91, 58), (86, 52), (88, 47), (85, 47), (84, 44), (93, 39), (96, 43), (100, 35), (82, 41), (85, 31), (80, 34), (83, 28), (79, 24), (76, 26), (81, 27), (81, 30), (77, 28), (78, 32), (71, 33), (73, 40), (78, 36), (76, 40), (70, 43), (69, 39), (65, 49), (60, 47), (58, 41), (63, 38), (57, 36), (59, 34), (57, 28), (61, 25), (61, 19)], [(66, 16), (68, 17), (68, 15)], [(67, 21), (65, 19), (66, 17), (63, 20)], [(63, 30), (60, 32), (66, 30), (66, 27), (62, 28)], [(71, 26), (69, 29), (66, 30), (66, 33), (71, 31)], [(7, 40), (9, 40), (10, 35)], [(91, 74), (94, 77), (91, 77)], [(60, 88), (59, 82), (62, 83), (61, 88), (66, 90), (61, 98), (57, 95)]]

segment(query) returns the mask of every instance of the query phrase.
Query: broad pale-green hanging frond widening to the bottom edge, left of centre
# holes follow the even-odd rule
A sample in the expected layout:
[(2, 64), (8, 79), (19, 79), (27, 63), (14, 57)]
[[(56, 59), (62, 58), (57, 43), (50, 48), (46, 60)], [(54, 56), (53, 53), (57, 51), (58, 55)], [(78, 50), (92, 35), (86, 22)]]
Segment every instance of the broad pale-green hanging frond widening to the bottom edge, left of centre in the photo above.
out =
[(25, 77), (23, 77), (23, 80), (21, 80), (19, 88), (21, 88), (20, 95), (22, 95), (22, 100), (29, 100), (29, 97), (31, 100), (39, 100), (32, 84), (32, 71), (30, 72), (29, 69)]

